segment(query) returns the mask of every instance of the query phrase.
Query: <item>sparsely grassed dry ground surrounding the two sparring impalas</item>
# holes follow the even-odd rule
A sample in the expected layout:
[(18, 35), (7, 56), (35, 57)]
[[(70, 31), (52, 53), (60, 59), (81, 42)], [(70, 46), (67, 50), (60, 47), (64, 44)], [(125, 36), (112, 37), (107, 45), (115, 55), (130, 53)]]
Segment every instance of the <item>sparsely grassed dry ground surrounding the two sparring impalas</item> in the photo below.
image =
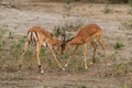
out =
[[(2, 21), (4, 21), (4, 28), (8, 28), (12, 32), (11, 34), (7, 32), (7, 36), (2, 35), (0, 37), (0, 88), (131, 88), (132, 34), (131, 30), (125, 30), (127, 28), (119, 30), (121, 23), (130, 19), (125, 4), (110, 4), (106, 8), (106, 4), (73, 3), (69, 11), (72, 15), (69, 18), (63, 18), (62, 3), (44, 4), (41, 3), (41, 7), (35, 4), (31, 9), (24, 7), (26, 10), (22, 8), (0, 8), (2, 16), (0, 23), (3, 25)], [(110, 9), (110, 12), (106, 14), (105, 8), (106, 10)], [(4, 16), (6, 14), (10, 15)], [(57, 67), (50, 50), (43, 47), (40, 56), (45, 74), (41, 75), (37, 72), (37, 61), (34, 57), (35, 47), (31, 45), (25, 54), (22, 72), (18, 73), (18, 61), (25, 41), (23, 35), (26, 34), (29, 26), (34, 24), (41, 24), (44, 28), (50, 26), (51, 29), (55, 29), (53, 30), (53, 34), (56, 35), (56, 29), (58, 29), (59, 24), (59, 29), (64, 28), (67, 30), (67, 35), (69, 34), (70, 37), (78, 28), (90, 22), (95, 22), (102, 28), (105, 44), (107, 45), (107, 52), (112, 63), (111, 67), (106, 67), (103, 63), (105, 55), (100, 46), (96, 55), (96, 63), (89, 65), (89, 61), (92, 57), (92, 48), (89, 44), (87, 52), (88, 70), (84, 68), (81, 46), (75, 54), (69, 67), (66, 68), (66, 72), (63, 72)], [(57, 54), (57, 58), (63, 66), (72, 52), (73, 47), (64, 55)]]

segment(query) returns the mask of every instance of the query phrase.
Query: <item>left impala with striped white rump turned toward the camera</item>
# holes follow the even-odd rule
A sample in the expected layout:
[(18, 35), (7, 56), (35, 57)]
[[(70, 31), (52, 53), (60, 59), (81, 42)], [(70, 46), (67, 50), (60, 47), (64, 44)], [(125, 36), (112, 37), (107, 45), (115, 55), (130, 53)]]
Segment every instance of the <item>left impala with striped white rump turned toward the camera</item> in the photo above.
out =
[(56, 55), (53, 51), (53, 46), (56, 46), (57, 48), (59, 47), (61, 41), (56, 37), (53, 37), (52, 33), (50, 33), (47, 30), (43, 29), (42, 26), (32, 26), (26, 35), (26, 42), (24, 45), (24, 50), (23, 53), (21, 55), (21, 59), (20, 59), (20, 65), (19, 67), (21, 68), (22, 65), (22, 61), (23, 61), (23, 56), (28, 50), (28, 45), (31, 43), (35, 43), (36, 44), (36, 51), (35, 51), (35, 55), (37, 58), (37, 63), (38, 63), (38, 68), (41, 70), (41, 73), (43, 74), (43, 69), (41, 66), (41, 61), (40, 61), (40, 50), (42, 45), (47, 45), (53, 54), (53, 57), (55, 58), (57, 65), (65, 70), (62, 65), (59, 64), (58, 59), (56, 58)]

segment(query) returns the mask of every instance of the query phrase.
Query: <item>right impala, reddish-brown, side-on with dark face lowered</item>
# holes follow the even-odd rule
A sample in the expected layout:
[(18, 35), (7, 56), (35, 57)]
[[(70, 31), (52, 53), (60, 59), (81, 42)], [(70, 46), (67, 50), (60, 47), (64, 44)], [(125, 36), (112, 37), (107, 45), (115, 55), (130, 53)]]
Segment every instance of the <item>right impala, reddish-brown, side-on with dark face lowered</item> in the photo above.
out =
[[(106, 55), (106, 59), (105, 62), (108, 63), (108, 55), (106, 53), (106, 46), (103, 45), (102, 42), (102, 36), (101, 36), (101, 29), (97, 25), (97, 24), (88, 24), (84, 28), (80, 28), (78, 30), (78, 32), (74, 35), (74, 37), (69, 38), (69, 40), (65, 40), (65, 35), (64, 35), (64, 40), (62, 43), (62, 53), (64, 53), (70, 45), (76, 45), (74, 48), (73, 54), (69, 56), (67, 63), (65, 64), (65, 66), (67, 66), (70, 62), (70, 59), (73, 58), (75, 52), (77, 51), (79, 45), (84, 45), (84, 62), (85, 62), (85, 68), (87, 69), (87, 62), (86, 62), (86, 52), (87, 52), (87, 44), (88, 42), (90, 42), (90, 44), (94, 47), (94, 57), (92, 57), (92, 62), (95, 62), (95, 55), (97, 52), (97, 45), (94, 42), (95, 38), (97, 38), (97, 41), (99, 42), (99, 44), (101, 45), (105, 55)], [(110, 65), (110, 64), (108, 64)]]

